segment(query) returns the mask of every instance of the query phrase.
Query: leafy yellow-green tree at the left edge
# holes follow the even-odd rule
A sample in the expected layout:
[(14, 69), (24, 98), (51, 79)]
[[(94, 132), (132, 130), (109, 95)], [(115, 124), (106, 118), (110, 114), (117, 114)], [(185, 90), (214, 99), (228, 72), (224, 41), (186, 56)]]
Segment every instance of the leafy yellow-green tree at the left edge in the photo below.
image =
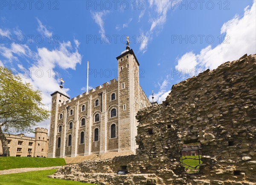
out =
[[(41, 102), (41, 91), (23, 83), (19, 76), (0, 66), (0, 140), (3, 154), (10, 156), (3, 132), (33, 132), (36, 122), (49, 117)], [(3, 129), (3, 130), (2, 130)]]

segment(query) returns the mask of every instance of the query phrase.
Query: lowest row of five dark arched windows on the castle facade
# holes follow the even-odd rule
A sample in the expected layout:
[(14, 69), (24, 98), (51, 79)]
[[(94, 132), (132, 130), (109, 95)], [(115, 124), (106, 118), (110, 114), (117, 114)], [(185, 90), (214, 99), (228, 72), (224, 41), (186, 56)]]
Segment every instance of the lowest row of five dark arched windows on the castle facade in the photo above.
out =
[[(60, 125), (61, 126), (61, 125)], [(93, 141), (99, 141), (99, 128), (94, 129)], [(110, 126), (110, 138), (116, 138), (116, 124)], [(84, 131), (80, 133), (80, 144), (84, 144)], [(72, 135), (68, 135), (67, 146), (72, 145)], [(58, 137), (57, 148), (61, 148), (61, 137)]]

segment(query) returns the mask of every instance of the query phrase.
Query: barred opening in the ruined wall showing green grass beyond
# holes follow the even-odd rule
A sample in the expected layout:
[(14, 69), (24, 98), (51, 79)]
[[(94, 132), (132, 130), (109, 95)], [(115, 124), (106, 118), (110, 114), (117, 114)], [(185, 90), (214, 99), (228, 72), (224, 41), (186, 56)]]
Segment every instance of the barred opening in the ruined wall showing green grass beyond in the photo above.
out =
[(180, 151), (180, 165), (185, 168), (186, 173), (193, 174), (198, 173), (201, 160), (201, 143), (195, 142), (195, 140), (190, 140), (182, 145), (182, 150)]

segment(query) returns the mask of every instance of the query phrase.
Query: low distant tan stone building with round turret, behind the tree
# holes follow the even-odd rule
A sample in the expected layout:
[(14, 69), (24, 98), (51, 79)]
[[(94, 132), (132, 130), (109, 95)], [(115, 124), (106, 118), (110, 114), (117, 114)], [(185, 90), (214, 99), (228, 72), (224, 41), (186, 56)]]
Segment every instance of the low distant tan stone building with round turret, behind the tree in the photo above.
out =
[[(8, 140), (10, 156), (16, 157), (47, 157), (48, 130), (46, 128), (35, 128), (35, 137), (26, 137), (24, 134), (5, 134)], [(3, 153), (0, 141), (0, 154)]]

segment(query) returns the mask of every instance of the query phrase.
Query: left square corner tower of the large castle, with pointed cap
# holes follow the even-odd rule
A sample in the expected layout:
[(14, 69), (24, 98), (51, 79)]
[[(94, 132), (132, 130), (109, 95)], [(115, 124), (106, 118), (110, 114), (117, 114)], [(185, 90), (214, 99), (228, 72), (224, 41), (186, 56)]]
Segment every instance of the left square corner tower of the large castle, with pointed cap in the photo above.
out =
[(66, 102), (70, 99), (67, 94), (62, 90), (64, 85), (64, 80), (60, 80), (60, 89), (51, 94), (52, 96), (52, 109), (51, 109), (51, 120), (50, 120), (50, 131), (49, 131), (49, 146), (48, 146), (48, 157), (55, 157), (56, 149), (56, 134), (58, 127), (58, 109), (61, 103)]

